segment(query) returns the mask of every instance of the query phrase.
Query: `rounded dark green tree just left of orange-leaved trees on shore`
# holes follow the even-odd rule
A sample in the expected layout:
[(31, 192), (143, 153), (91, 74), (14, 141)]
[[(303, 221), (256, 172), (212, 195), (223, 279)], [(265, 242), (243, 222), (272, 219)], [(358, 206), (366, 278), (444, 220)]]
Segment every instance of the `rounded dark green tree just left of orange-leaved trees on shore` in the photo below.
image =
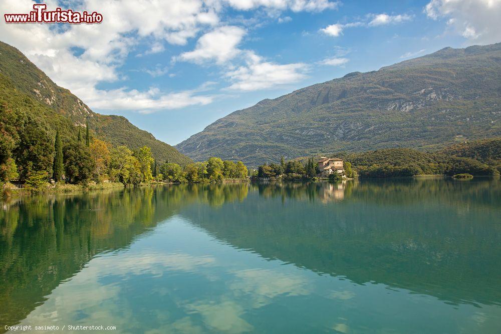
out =
[(96, 166), (88, 147), (81, 143), (70, 143), (63, 149), (65, 176), (70, 183), (88, 181)]

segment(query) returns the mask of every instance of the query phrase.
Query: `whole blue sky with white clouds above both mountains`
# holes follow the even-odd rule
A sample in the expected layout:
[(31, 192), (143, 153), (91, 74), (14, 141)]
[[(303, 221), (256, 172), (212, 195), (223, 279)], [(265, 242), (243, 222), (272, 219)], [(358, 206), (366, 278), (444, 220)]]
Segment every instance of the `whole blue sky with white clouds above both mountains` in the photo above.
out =
[[(31, 0), (3, 0), (25, 13)], [(0, 25), (94, 111), (175, 145), (265, 98), (450, 46), (501, 40), (500, 0), (79, 0), (100, 25)]]

